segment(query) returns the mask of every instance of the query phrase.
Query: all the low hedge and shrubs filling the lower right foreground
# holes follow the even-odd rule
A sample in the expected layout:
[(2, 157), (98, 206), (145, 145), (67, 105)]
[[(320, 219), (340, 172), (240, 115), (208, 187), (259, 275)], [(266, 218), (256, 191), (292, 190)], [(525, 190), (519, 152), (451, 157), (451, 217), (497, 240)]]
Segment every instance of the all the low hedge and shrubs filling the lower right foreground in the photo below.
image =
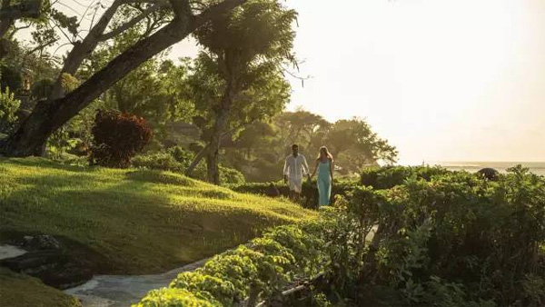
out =
[(139, 306), (246, 298), (254, 306), (317, 272), (325, 282), (311, 283), (299, 305), (542, 306), (545, 178), (509, 171), (493, 181), (439, 168), (373, 171), (383, 183), (405, 178), (389, 189), (353, 184), (312, 226), (277, 228), (180, 274)]

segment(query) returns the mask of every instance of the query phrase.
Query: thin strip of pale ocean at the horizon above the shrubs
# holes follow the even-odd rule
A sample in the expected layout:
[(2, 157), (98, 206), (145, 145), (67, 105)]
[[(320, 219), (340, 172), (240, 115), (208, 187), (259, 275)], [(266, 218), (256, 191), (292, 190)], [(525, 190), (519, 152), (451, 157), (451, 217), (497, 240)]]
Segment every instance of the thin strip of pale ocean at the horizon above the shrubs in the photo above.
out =
[(530, 169), (531, 173), (545, 176), (545, 162), (431, 162), (430, 165), (441, 165), (452, 171), (477, 172), (485, 167), (490, 167), (500, 173), (505, 173), (511, 166), (521, 164)]

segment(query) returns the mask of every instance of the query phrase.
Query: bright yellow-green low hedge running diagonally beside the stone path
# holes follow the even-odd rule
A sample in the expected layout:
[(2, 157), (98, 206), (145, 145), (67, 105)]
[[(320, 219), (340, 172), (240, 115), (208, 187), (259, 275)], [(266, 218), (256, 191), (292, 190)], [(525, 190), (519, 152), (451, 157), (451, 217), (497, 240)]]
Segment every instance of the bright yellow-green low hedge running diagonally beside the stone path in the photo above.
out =
[(295, 279), (321, 270), (325, 244), (315, 231), (312, 224), (277, 227), (248, 246), (213, 257), (194, 272), (179, 274), (170, 284), (178, 291), (169, 292), (170, 300), (161, 301), (154, 291), (136, 306), (171, 306), (171, 301), (189, 298), (188, 306), (202, 299), (213, 306), (237, 306), (248, 296), (271, 298)]

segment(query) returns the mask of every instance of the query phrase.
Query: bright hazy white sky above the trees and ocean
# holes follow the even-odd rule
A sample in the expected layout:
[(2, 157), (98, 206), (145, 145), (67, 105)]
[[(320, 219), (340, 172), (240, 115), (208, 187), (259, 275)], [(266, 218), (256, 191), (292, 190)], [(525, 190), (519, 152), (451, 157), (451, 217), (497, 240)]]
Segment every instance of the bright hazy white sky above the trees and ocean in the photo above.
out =
[(288, 110), (364, 118), (404, 164), (545, 161), (545, 0), (285, 4), (311, 76), (291, 79)]

